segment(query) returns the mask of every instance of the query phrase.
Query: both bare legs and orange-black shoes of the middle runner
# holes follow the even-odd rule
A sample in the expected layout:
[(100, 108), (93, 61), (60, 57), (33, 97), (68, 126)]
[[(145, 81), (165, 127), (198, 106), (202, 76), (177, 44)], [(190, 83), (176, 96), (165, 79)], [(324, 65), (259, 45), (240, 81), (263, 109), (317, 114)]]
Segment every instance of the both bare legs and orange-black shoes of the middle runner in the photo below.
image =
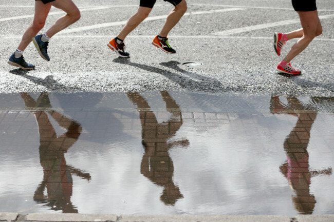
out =
[[(168, 43), (167, 36), (172, 28), (180, 21), (184, 12), (187, 11), (187, 3), (185, 3), (185, 0), (164, 1), (170, 2), (175, 6), (175, 8), (169, 13), (162, 30), (160, 31), (159, 35), (155, 36), (152, 44), (164, 52), (176, 53), (176, 51)], [(156, 0), (140, 0), (137, 13), (129, 18), (118, 36), (109, 41), (108, 47), (121, 57), (129, 57), (130, 54), (124, 51), (125, 45), (123, 41), (130, 32), (132, 32), (142, 21), (144, 21), (147, 16), (149, 16), (155, 2)]]

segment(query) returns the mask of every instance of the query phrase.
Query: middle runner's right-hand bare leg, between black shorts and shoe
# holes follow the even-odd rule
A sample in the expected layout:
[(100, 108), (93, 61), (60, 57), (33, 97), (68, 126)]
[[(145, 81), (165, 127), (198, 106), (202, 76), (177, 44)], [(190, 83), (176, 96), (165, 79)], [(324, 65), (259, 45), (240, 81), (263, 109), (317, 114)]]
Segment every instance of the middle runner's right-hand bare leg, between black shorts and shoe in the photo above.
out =
[(172, 28), (180, 21), (185, 11), (187, 11), (187, 3), (185, 0), (182, 0), (182, 2), (175, 6), (175, 8), (169, 13), (159, 35), (167, 37)]

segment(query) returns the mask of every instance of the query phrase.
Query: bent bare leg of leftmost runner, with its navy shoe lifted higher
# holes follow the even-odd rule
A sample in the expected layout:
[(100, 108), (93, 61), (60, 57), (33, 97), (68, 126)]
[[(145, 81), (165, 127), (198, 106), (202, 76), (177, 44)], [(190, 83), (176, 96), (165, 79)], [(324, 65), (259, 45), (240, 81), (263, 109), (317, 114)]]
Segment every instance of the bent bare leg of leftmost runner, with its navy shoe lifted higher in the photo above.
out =
[(80, 11), (72, 0), (57, 0), (49, 3), (52, 6), (59, 8), (67, 14), (60, 17), (57, 22), (46, 32), (46, 35), (52, 37), (61, 30), (67, 28), (80, 19)]

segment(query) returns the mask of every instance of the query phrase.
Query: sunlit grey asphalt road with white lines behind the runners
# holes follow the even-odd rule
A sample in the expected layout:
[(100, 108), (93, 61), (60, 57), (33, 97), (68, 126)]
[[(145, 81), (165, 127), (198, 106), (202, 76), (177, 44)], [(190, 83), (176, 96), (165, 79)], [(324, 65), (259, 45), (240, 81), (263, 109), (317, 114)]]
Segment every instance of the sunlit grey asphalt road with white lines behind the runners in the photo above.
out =
[[(138, 0), (74, 0), (79, 22), (52, 37), (43, 60), (30, 44), (24, 52), (35, 70), (7, 64), (32, 22), (34, 1), (0, 2), (0, 93), (196, 91), (264, 93), (288, 96), (334, 95), (334, 2), (318, 1), (323, 34), (292, 61), (299, 76), (280, 75), (277, 63), (295, 40), (273, 49), (273, 33), (301, 27), (290, 0), (188, 0), (188, 11), (169, 38), (176, 54), (151, 42), (173, 6), (157, 0), (150, 16), (126, 39), (131, 58), (107, 47), (138, 8)], [(52, 8), (45, 32), (64, 13)], [(196, 62), (196, 66), (182, 65)]]

